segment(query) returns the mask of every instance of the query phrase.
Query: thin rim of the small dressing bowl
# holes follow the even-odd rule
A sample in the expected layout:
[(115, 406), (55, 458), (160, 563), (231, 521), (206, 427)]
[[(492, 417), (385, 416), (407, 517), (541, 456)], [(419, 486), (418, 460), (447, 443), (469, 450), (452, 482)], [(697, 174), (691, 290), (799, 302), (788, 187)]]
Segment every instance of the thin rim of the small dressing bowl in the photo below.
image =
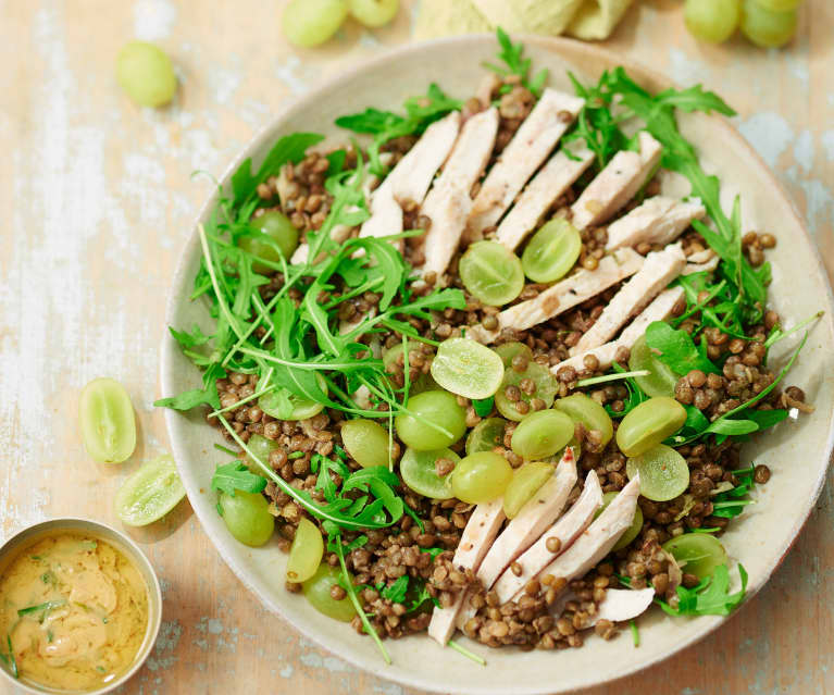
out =
[[(85, 529), (86, 528), (86, 529)], [(18, 528), (8, 538), (0, 543), (0, 558), (2, 558), (10, 548), (25, 545), (30, 538), (37, 538), (38, 536), (46, 536), (50, 530), (55, 531), (85, 531), (90, 535), (97, 535), (103, 541), (111, 541), (108, 534), (112, 534), (116, 538), (116, 544), (122, 544), (123, 548), (128, 554), (130, 560), (139, 566), (139, 570), (142, 574), (142, 579), (146, 580), (148, 587), (148, 625), (145, 630), (145, 637), (142, 638), (139, 649), (136, 651), (136, 657), (129, 669), (127, 669), (122, 675), (120, 675), (112, 683), (99, 687), (94, 691), (63, 691), (48, 687), (39, 687), (32, 683), (24, 683), (18, 679), (12, 677), (5, 668), (0, 668), (0, 673), (5, 681), (13, 687), (17, 687), (26, 693), (33, 695), (104, 695), (104, 693), (111, 693), (121, 685), (124, 685), (133, 675), (145, 665), (150, 656), (153, 645), (157, 643), (159, 631), (162, 625), (162, 587), (159, 583), (159, 578), (153, 569), (153, 564), (145, 555), (139, 545), (130, 538), (126, 533), (96, 519), (89, 519), (87, 517), (50, 517), (42, 519), (34, 524), (28, 524)], [(148, 578), (151, 581), (147, 581)]]

